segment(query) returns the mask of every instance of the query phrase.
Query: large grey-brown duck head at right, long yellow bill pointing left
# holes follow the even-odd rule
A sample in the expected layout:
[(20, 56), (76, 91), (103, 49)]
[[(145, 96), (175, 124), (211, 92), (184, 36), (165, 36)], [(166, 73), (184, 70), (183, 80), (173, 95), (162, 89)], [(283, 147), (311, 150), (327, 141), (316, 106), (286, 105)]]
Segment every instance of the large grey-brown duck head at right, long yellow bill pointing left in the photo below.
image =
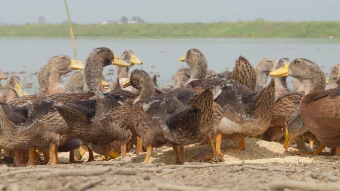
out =
[(310, 60), (299, 58), (289, 64), (269, 73), (271, 77), (286, 77), (288, 75), (296, 78), (305, 87), (305, 93), (310, 91), (324, 91), (326, 88), (326, 76), (322, 69)]

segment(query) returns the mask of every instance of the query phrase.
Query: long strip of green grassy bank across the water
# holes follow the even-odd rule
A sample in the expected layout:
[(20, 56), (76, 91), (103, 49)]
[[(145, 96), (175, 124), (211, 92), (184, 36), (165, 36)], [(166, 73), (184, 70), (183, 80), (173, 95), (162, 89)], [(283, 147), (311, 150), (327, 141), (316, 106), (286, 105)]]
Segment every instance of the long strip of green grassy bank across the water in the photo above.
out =
[[(340, 38), (340, 21), (74, 24), (76, 37), (110, 38)], [(0, 36), (68, 37), (67, 24), (0, 26)]]

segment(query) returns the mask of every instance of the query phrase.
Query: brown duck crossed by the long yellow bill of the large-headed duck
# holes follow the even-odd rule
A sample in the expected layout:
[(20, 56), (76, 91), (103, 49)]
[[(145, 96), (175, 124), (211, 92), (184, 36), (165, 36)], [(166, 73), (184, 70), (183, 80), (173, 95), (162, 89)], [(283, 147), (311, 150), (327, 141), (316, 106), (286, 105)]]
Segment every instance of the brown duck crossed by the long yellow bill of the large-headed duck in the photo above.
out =
[[(288, 58), (281, 58), (275, 62), (275, 69), (289, 63)], [(280, 141), (285, 135), (285, 121), (294, 111), (299, 110), (299, 103), (304, 92), (291, 92), (287, 87), (286, 76), (276, 77), (275, 81), (275, 105), (272, 111), (270, 127), (260, 135), (267, 141)]]

